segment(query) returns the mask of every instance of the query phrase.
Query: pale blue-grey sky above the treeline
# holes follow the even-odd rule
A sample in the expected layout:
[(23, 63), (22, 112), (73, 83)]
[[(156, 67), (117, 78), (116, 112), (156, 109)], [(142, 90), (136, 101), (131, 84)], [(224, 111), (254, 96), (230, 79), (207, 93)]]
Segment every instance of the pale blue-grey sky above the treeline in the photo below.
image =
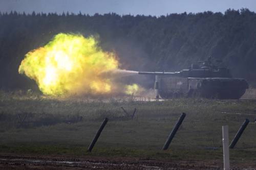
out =
[(225, 12), (248, 8), (256, 11), (256, 0), (0, 0), (1, 12), (62, 12), (166, 15), (203, 11)]

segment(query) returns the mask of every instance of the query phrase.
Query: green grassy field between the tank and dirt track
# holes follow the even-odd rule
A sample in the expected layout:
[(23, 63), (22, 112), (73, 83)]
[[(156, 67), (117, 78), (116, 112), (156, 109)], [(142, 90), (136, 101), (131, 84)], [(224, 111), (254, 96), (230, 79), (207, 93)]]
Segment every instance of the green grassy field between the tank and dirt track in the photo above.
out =
[[(129, 114), (136, 108), (134, 119), (121, 107)], [(182, 112), (187, 114), (182, 126), (161, 151)], [(86, 152), (105, 117), (109, 123), (93, 152)], [(255, 100), (56, 99), (0, 92), (0, 152), (221, 160), (222, 126), (229, 126), (231, 141), (245, 118), (251, 123), (230, 159), (255, 161)]]

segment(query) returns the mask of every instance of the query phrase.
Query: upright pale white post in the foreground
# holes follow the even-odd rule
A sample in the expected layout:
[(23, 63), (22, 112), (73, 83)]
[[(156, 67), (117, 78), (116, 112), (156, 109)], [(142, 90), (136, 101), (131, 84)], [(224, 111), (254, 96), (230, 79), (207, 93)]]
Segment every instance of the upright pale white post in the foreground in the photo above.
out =
[(229, 170), (228, 126), (222, 126), (224, 170)]

